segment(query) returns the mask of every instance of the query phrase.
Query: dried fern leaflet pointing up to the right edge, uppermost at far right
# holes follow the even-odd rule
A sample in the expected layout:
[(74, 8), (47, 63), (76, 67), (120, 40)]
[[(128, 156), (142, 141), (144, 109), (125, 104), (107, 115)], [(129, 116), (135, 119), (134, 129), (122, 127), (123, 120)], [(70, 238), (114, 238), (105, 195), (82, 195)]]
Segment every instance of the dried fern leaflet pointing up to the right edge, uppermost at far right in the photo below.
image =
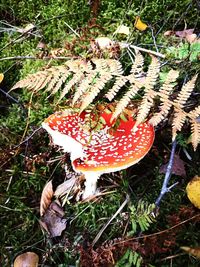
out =
[(195, 75), (190, 81), (188, 81), (185, 85), (183, 85), (180, 93), (178, 94), (177, 98), (174, 101), (178, 105), (178, 107), (180, 108), (184, 107), (186, 101), (188, 100), (194, 89), (196, 79), (197, 75)]

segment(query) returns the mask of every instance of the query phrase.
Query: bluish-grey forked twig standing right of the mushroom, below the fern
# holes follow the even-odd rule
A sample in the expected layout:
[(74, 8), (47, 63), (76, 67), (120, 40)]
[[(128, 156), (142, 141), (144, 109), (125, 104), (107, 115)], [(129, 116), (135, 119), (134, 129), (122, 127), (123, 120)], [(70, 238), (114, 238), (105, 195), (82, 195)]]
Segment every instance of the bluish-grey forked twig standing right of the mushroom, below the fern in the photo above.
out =
[(175, 183), (172, 186), (168, 187), (168, 183), (169, 183), (169, 180), (171, 178), (172, 167), (173, 167), (173, 163), (174, 163), (174, 155), (175, 155), (176, 145), (177, 145), (177, 142), (176, 142), (176, 140), (174, 140), (172, 142), (172, 151), (171, 151), (169, 163), (167, 165), (167, 170), (166, 170), (166, 173), (165, 173), (165, 178), (164, 178), (164, 181), (163, 181), (162, 189), (160, 191), (160, 195), (158, 196), (158, 198), (156, 199), (156, 202), (155, 202), (157, 207), (159, 207), (161, 199), (163, 198), (163, 196), (167, 192), (169, 192), (177, 184), (177, 183)]

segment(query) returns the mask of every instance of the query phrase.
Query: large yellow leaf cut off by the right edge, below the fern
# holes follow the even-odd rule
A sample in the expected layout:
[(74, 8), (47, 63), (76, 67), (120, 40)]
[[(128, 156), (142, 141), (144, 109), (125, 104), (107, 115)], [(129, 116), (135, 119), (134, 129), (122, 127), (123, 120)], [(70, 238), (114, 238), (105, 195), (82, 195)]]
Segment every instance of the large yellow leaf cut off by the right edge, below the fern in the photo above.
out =
[(200, 176), (195, 176), (186, 187), (186, 192), (192, 204), (200, 209)]

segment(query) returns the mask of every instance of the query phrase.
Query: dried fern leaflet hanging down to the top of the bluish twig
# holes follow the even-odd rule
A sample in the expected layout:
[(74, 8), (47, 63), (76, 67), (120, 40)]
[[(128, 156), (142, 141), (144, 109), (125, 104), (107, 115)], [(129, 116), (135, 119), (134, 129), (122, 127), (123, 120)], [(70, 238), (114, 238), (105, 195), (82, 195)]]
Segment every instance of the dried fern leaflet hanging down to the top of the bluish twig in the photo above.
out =
[(174, 117), (172, 121), (172, 140), (174, 141), (178, 131), (181, 131), (183, 124), (185, 123), (187, 114), (181, 110), (174, 108)]

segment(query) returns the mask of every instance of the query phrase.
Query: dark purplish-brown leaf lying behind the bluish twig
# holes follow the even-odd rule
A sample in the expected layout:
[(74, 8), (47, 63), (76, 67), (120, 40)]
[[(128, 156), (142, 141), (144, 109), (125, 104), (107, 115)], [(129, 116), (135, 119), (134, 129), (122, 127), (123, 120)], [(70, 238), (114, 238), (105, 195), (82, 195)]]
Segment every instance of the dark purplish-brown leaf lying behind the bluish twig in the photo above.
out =
[[(168, 163), (162, 165), (159, 169), (159, 173), (166, 173), (167, 165)], [(179, 155), (174, 155), (172, 174), (175, 174), (181, 177), (186, 177), (185, 162), (182, 159), (180, 159)]]

